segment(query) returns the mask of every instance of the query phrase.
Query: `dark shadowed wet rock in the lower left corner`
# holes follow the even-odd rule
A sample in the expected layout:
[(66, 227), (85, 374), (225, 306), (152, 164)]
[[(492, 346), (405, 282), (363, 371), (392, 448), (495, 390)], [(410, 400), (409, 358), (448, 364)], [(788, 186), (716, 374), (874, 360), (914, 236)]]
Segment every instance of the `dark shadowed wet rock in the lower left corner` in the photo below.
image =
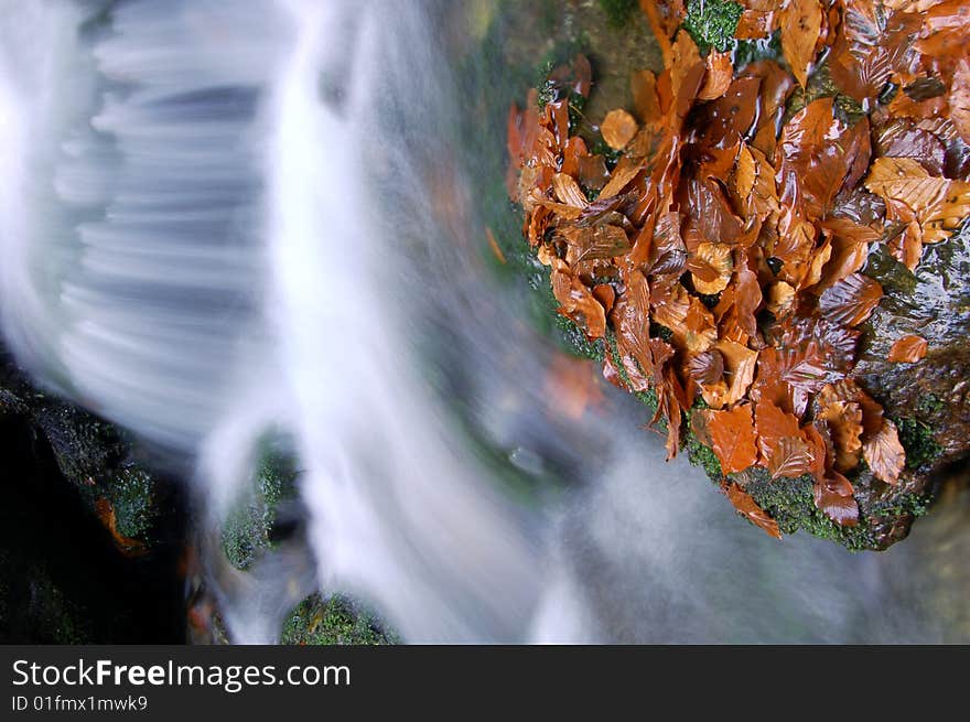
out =
[(131, 454), (0, 349), (0, 643), (184, 639), (183, 502)]

